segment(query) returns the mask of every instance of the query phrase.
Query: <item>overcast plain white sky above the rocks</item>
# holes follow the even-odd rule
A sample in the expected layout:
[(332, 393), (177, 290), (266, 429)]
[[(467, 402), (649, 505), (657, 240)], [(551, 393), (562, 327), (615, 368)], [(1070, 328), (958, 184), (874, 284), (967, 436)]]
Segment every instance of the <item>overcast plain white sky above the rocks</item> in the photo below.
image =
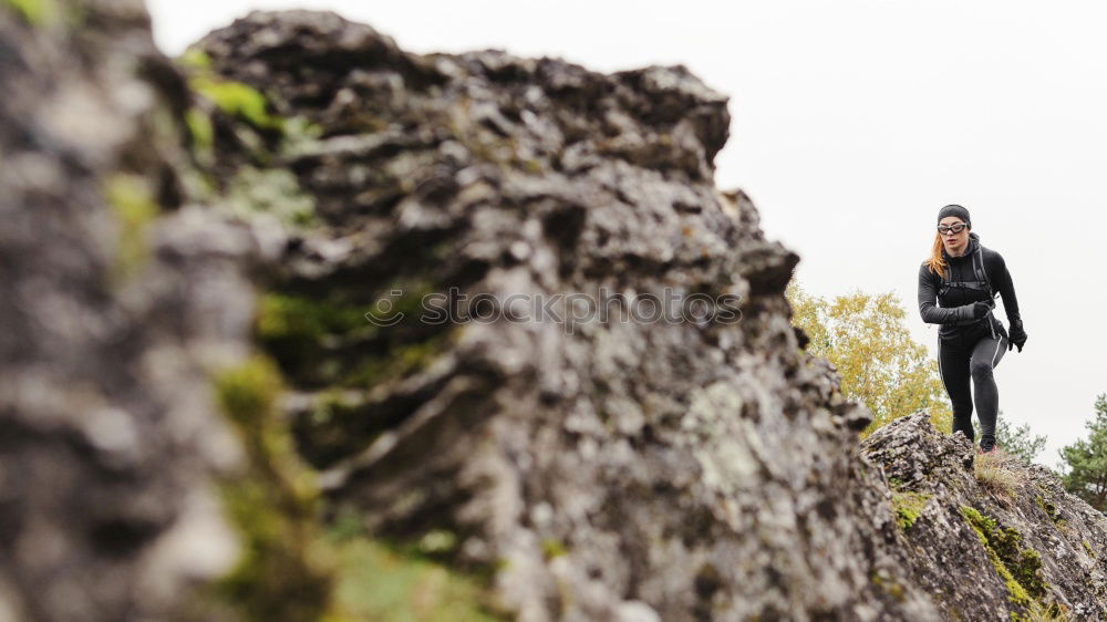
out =
[[(938, 210), (959, 203), (1006, 259), (1030, 335), (996, 367), (1000, 410), (1085, 436), (1107, 392), (1107, 6), (792, 0), (147, 0), (168, 54), (251, 9), (332, 9), (414, 52), (499, 48), (597, 71), (683, 63), (731, 97), (721, 187), (741, 187), (823, 296), (915, 302)], [(1001, 319), (1005, 317), (1001, 313)]]

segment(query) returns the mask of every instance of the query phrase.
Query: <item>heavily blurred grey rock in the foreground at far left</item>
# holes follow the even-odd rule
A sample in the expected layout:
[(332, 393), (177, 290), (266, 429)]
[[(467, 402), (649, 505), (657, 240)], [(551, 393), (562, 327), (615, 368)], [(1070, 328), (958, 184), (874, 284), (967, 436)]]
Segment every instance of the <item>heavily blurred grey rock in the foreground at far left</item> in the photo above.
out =
[(0, 620), (174, 619), (237, 551), (207, 365), (252, 242), (183, 204), (141, 3), (0, 2)]

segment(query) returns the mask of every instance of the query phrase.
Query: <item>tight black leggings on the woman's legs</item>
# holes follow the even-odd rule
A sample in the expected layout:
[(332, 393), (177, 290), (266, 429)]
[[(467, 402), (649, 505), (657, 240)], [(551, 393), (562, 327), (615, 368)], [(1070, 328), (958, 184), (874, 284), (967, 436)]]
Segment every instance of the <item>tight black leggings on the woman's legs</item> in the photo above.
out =
[[(985, 450), (995, 445), (995, 417), (1000, 411), (1000, 392), (995, 386), (992, 370), (1003, 360), (1007, 351), (1007, 338), (991, 334), (955, 335), (953, 339), (938, 340), (938, 373), (945, 385), (945, 393), (953, 403), (953, 433), (960, 431), (972, 442), (975, 432), (972, 426), (973, 397), (976, 400), (976, 416), (980, 418), (980, 445)], [(972, 379), (975, 395), (969, 392)]]

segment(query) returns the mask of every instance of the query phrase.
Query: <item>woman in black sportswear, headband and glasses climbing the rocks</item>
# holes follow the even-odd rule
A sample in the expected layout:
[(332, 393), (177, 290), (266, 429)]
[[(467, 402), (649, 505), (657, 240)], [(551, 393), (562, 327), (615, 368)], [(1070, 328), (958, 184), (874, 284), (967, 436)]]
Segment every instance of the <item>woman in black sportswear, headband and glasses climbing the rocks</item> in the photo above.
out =
[[(953, 403), (953, 433), (961, 432), (970, 443), (975, 438), (975, 397), (982, 428), (976, 453), (984, 454), (995, 449), (1000, 407), (992, 370), (1005, 351), (1013, 346), (1023, 351), (1026, 332), (1003, 257), (981, 246), (980, 236), (971, 229), (964, 207), (948, 205), (938, 212), (934, 247), (919, 270), (919, 312), (923, 322), (942, 325), (938, 331), (938, 372)], [(1010, 335), (992, 314), (996, 292), (1003, 297)], [(970, 379), (974, 395), (969, 391)]]

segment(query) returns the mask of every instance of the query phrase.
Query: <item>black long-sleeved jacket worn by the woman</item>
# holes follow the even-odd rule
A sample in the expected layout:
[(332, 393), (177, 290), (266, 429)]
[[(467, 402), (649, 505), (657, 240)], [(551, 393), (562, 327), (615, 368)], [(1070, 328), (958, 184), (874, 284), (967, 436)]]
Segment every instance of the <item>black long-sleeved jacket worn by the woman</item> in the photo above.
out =
[[(972, 261), (977, 249), (982, 252), (984, 271), (987, 273), (987, 281), (991, 283), (992, 290), (999, 291), (1003, 298), (1003, 309), (1007, 313), (1007, 321), (1013, 329), (1018, 326), (1021, 332), (1023, 320), (1018, 315), (1015, 286), (1011, 282), (1007, 266), (999, 252), (980, 243), (980, 236), (975, 232), (969, 232), (969, 249), (961, 257), (950, 257), (945, 255), (945, 248), (942, 248), (942, 258), (946, 262), (945, 270), (950, 272), (949, 280), (976, 280)], [(995, 334), (1007, 334), (1003, 323), (995, 319), (991, 312), (975, 322), (972, 321), (973, 302), (980, 300), (994, 304), (986, 292), (966, 288), (949, 288), (944, 296), (940, 296), (941, 288), (942, 277), (938, 272), (931, 271), (924, 262), (919, 268), (919, 313), (922, 315), (923, 322), (942, 325), (939, 330), (941, 338), (949, 339), (981, 330), (981, 326), (989, 326), (985, 322), (991, 322), (991, 328), (985, 328), (984, 332), (994, 329)], [(938, 305), (934, 304), (935, 300)]]

